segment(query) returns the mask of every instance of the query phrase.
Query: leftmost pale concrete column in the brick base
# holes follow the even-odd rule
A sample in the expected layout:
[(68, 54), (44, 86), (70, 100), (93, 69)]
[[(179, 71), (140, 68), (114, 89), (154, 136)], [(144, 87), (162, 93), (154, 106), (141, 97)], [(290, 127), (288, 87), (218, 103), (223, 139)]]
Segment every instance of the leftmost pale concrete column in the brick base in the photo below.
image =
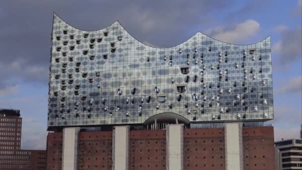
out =
[(75, 127), (63, 129), (62, 170), (76, 170), (79, 130)]

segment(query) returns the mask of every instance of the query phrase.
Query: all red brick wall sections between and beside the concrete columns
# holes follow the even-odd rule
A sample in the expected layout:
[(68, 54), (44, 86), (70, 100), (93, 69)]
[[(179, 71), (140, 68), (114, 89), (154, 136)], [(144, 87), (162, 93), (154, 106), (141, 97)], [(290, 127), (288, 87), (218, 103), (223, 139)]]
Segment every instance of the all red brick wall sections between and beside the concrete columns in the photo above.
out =
[[(225, 170), (224, 128), (184, 129), (184, 170)], [(275, 170), (273, 127), (243, 127), (244, 170)], [(61, 170), (62, 133), (47, 137), (47, 170)], [(166, 131), (131, 130), (130, 170), (166, 170)], [(78, 170), (111, 170), (112, 131), (79, 132)]]

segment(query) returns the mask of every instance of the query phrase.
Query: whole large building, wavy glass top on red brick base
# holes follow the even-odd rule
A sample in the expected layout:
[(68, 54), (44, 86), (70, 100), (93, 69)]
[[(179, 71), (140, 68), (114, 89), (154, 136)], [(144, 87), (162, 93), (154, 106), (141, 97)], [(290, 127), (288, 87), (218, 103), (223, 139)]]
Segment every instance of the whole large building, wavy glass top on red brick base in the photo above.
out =
[(48, 170), (275, 167), (270, 37), (163, 48), (54, 14), (49, 69)]

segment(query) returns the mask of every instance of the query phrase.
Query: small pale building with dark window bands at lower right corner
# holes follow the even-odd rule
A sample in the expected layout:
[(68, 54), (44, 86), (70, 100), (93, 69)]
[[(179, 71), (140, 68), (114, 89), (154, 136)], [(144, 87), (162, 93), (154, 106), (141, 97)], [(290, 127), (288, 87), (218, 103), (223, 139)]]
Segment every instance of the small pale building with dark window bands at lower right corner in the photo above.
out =
[(275, 142), (276, 170), (302, 170), (302, 139)]

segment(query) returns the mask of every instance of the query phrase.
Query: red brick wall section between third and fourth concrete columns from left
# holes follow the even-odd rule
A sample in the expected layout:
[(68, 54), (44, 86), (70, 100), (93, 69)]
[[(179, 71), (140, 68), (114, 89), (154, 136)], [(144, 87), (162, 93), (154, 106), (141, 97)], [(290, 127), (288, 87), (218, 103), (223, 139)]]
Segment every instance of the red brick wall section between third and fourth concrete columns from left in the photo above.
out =
[(225, 170), (224, 128), (184, 129), (184, 170)]

